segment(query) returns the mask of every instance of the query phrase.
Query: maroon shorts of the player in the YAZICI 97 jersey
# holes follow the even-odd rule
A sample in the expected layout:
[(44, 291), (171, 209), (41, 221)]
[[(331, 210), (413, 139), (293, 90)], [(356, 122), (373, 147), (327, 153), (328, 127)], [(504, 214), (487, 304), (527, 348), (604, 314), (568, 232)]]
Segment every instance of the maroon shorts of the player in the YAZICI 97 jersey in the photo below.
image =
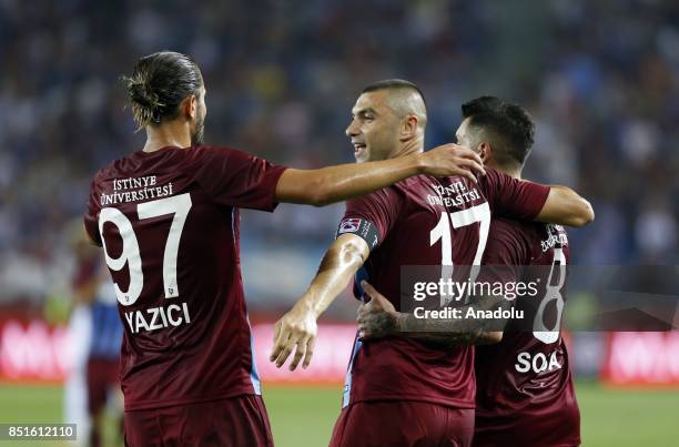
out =
[(273, 447), (261, 396), (125, 412), (125, 446)]

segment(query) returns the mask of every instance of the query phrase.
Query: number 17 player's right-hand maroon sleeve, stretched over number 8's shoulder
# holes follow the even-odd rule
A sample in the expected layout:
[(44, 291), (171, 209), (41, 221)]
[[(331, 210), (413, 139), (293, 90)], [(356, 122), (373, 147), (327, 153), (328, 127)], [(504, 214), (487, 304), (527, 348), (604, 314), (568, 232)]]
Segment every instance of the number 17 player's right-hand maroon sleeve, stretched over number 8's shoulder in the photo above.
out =
[(507, 174), (486, 169), (479, 186), (496, 216), (533, 221), (549, 195), (549, 186), (517, 180)]

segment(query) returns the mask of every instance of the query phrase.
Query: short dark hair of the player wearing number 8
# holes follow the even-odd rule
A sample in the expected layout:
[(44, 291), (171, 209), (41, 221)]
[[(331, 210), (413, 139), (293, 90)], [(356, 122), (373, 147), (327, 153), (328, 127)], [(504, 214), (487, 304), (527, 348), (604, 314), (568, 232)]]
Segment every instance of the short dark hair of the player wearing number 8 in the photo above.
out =
[(498, 163), (508, 161), (524, 164), (535, 139), (535, 123), (520, 105), (496, 96), (479, 96), (462, 105), (463, 118), (469, 125), (480, 128), (494, 139)]

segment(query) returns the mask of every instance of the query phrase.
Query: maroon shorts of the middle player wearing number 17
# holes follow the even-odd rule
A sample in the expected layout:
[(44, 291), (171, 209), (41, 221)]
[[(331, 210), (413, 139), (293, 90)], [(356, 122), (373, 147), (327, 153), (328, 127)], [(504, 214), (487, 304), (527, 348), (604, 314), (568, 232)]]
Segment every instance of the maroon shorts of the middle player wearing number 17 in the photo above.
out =
[(342, 409), (331, 447), (468, 447), (474, 409), (408, 400), (358, 402)]

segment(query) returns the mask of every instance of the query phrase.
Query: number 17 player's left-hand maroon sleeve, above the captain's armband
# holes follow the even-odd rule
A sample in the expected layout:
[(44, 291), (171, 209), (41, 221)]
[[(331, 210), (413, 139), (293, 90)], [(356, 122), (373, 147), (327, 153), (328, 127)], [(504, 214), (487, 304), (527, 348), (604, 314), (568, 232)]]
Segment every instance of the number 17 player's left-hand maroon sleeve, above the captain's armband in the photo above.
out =
[(346, 232), (344, 228), (352, 220), (367, 221), (377, 230), (377, 241), (374, 244), (369, 244), (371, 248), (375, 248), (382, 244), (394, 227), (401, 213), (402, 204), (401, 195), (393, 187), (348, 200), (346, 201), (344, 217), (340, 223), (338, 234)]

